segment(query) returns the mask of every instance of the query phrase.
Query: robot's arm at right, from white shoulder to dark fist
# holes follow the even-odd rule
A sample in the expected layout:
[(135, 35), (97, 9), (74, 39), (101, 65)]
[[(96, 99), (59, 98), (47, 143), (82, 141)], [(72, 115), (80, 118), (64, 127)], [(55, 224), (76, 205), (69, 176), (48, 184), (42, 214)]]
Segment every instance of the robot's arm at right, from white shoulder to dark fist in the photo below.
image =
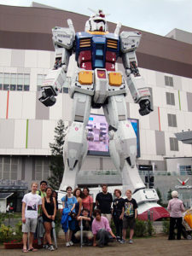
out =
[(136, 49), (141, 40), (140, 32), (121, 32), (122, 61), (125, 67), (126, 82), (131, 91), (134, 102), (139, 103), (139, 113), (145, 115), (153, 111), (149, 100), (150, 92), (145, 87), (144, 79), (141, 77), (137, 67)]

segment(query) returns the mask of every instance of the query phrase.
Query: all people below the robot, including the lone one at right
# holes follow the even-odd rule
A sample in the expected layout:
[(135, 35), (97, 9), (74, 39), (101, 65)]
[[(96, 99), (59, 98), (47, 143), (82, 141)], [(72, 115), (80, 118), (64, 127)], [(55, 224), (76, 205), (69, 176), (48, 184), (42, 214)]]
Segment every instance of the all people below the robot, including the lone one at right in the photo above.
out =
[[(61, 227), (65, 232), (66, 246), (73, 246), (83, 235), (87, 245), (104, 247), (108, 241), (125, 243), (127, 228), (130, 228), (129, 243), (133, 243), (134, 228), (137, 218), (137, 201), (131, 197), (131, 190), (126, 190), (126, 199), (121, 197), (121, 191), (114, 189), (115, 198), (108, 192), (108, 185), (102, 184), (102, 192), (96, 195), (94, 210), (90, 190), (72, 189), (67, 187), (67, 195), (61, 198)], [(51, 242), (52, 221), (55, 221), (58, 210), (57, 193), (47, 186), (46, 181), (32, 183), (32, 191), (24, 195), (22, 200), (22, 232), (23, 252), (35, 252), (32, 247), (38, 216), (44, 221), (44, 248), (54, 251)], [(94, 210), (94, 211), (93, 211)], [(181, 239), (183, 202), (178, 199), (177, 191), (172, 192), (168, 210), (171, 212), (169, 240), (175, 239), (174, 228), (177, 226), (177, 239)], [(116, 234), (111, 229), (111, 220), (115, 225)], [(82, 229), (82, 230), (80, 230)], [(28, 237), (29, 233), (29, 237)], [(27, 247), (28, 241), (28, 247)], [(97, 242), (96, 242), (97, 241)]]

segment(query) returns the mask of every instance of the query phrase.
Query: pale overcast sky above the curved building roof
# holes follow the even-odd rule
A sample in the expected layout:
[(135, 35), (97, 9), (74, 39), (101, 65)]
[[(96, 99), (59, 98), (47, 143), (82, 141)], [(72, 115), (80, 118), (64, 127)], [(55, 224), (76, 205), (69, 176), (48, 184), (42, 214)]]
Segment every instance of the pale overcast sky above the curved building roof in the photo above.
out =
[[(120, 21), (146, 32), (165, 36), (178, 28), (192, 32), (192, 0), (37, 0), (33, 1), (65, 9), (82, 15), (91, 15), (90, 9), (102, 9), (110, 14), (107, 19)], [(32, 0), (0, 0), (0, 4), (27, 6)]]

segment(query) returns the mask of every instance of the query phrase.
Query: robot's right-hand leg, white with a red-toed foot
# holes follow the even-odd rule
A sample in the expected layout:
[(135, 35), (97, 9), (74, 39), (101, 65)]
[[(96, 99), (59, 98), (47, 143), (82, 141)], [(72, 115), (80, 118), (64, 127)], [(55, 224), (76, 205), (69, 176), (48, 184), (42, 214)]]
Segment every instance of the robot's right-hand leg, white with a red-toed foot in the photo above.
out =
[(127, 119), (125, 96), (110, 96), (104, 113), (109, 124), (109, 150), (113, 164), (122, 177), (123, 192), (131, 189), (138, 204), (139, 218), (146, 219), (153, 211), (153, 219), (168, 217), (169, 213), (156, 202), (159, 197), (155, 189), (145, 189), (136, 166), (137, 137)]

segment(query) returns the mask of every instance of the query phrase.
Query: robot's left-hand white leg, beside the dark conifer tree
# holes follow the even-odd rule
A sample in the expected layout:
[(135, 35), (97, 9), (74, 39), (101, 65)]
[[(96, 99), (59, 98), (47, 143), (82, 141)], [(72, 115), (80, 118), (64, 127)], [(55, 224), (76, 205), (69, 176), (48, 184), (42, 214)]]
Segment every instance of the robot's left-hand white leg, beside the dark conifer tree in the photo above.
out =
[(87, 154), (87, 139), (85, 126), (90, 116), (91, 96), (76, 92), (73, 96), (73, 123), (67, 131), (64, 143), (63, 158), (65, 171), (60, 190), (67, 186), (77, 185), (77, 174)]

